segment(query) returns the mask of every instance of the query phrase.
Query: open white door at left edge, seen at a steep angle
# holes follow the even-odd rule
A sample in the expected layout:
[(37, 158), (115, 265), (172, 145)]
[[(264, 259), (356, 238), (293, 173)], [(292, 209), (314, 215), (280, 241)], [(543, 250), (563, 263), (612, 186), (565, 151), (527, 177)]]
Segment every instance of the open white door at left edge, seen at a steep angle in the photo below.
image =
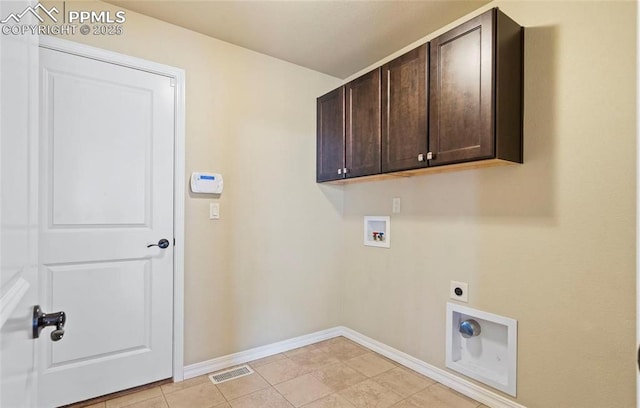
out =
[[(0, 20), (28, 1), (0, 1)], [(30, 20), (28, 20), (30, 18)], [(34, 23), (24, 16), (25, 23)], [(0, 36), (0, 407), (36, 407), (38, 39)], [(36, 150), (37, 152), (37, 150)]]

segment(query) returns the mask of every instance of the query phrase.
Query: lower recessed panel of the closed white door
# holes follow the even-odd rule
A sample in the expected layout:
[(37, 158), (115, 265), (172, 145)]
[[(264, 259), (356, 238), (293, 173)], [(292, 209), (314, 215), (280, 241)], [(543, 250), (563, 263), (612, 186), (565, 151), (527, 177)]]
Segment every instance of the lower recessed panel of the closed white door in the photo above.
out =
[[(66, 325), (72, 335), (52, 349), (51, 367), (150, 349), (150, 266), (142, 259), (47, 268), (53, 308), (64, 308), (73, 316)], [(81, 292), (76, 290), (77, 282), (84, 282)], [(74, 330), (95, 325), (96, 316), (109, 316), (104, 330)], [(106, 331), (113, 335), (105, 335)]]

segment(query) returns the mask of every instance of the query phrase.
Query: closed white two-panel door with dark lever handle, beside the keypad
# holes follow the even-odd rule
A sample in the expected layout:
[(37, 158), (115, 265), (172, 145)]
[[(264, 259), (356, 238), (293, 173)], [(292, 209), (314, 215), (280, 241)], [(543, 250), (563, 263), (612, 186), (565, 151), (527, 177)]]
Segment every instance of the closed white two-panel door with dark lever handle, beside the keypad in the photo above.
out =
[(41, 49), (40, 298), (67, 322), (40, 341), (40, 407), (172, 376), (174, 91)]

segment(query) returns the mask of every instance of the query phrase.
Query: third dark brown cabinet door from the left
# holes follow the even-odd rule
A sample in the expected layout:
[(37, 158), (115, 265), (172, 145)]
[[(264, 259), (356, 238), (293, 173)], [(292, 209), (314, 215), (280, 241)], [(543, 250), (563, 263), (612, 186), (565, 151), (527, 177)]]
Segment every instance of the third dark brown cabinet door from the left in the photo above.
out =
[(427, 165), (427, 46), (382, 67), (382, 172)]

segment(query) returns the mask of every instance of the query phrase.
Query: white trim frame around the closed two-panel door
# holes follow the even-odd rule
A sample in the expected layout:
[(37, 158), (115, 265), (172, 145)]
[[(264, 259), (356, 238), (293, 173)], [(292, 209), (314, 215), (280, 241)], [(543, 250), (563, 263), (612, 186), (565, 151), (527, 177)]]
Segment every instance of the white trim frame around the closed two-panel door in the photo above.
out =
[(176, 87), (173, 170), (173, 380), (184, 379), (184, 200), (185, 200), (185, 71), (169, 65), (100, 48), (41, 36), (40, 47), (92, 58), (174, 79)]

